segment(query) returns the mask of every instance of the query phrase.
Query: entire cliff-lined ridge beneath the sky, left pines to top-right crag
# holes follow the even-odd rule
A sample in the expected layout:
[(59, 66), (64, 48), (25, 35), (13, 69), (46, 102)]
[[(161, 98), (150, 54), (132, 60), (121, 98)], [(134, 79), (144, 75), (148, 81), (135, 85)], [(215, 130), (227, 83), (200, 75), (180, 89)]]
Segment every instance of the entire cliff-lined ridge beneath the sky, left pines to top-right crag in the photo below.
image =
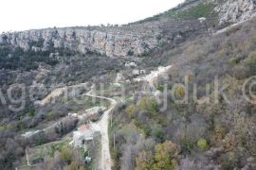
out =
[[(95, 53), (106, 57), (145, 57), (162, 46), (176, 46), (198, 35), (249, 19), (255, 2), (249, 0), (187, 0), (155, 17), (127, 26), (47, 28), (0, 36), (3, 68), (16, 69), (18, 59), (36, 69), (36, 62), (55, 65), (64, 55)], [(29, 56), (29, 59), (26, 59)], [(25, 63), (24, 63), (25, 62)], [(29, 69), (27, 67), (27, 69)]]

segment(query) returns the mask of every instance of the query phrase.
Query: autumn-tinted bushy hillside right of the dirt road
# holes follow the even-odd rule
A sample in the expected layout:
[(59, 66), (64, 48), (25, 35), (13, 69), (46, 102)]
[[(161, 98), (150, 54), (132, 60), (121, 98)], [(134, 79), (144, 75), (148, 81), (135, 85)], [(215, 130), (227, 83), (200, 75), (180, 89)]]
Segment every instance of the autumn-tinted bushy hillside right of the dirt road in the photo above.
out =
[[(188, 76), (189, 89), (196, 83), (197, 98), (204, 99), (209, 84), (210, 103), (198, 104), (189, 91), (189, 103), (177, 104), (169, 91), (167, 110), (160, 110), (161, 102), (151, 95), (119, 106), (110, 130), (117, 169), (255, 167), (255, 106), (242, 96), (243, 83), (256, 71), (255, 23), (253, 20), (227, 33), (165, 49), (155, 58), (152, 56), (154, 62), (144, 60), (152, 66), (167, 61), (174, 65), (168, 82), (159, 78), (160, 87), (167, 83), (171, 90), (174, 83), (184, 84), (184, 77)], [(228, 86), (217, 103), (213, 102), (214, 76), (219, 77), (219, 88)], [(174, 90), (177, 98), (184, 97), (183, 86)], [(254, 88), (252, 91), (256, 92)], [(166, 149), (161, 150), (162, 147)]]

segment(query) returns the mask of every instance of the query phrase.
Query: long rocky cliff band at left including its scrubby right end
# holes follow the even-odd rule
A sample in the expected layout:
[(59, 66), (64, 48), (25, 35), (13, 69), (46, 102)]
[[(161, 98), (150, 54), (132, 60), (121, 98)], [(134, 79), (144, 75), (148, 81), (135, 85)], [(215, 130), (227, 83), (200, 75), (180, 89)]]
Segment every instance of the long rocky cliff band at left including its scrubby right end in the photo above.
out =
[(0, 44), (24, 50), (69, 49), (107, 57), (144, 56), (163, 44), (175, 44), (205, 31), (198, 20), (164, 20), (129, 26), (48, 28), (4, 33)]

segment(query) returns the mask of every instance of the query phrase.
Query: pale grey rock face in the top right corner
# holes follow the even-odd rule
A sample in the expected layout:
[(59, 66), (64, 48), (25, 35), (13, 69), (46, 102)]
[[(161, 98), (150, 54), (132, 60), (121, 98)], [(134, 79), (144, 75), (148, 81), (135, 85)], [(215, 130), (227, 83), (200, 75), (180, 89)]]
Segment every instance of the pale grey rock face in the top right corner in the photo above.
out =
[(237, 23), (249, 19), (256, 12), (256, 0), (228, 0), (215, 8), (219, 24)]

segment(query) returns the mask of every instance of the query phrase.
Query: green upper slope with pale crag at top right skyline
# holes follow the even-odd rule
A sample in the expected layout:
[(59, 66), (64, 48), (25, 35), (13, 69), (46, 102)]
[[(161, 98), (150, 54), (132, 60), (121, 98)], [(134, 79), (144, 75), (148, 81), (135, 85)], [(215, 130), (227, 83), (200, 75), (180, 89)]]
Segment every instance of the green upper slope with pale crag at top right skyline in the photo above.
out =
[(254, 0), (186, 0), (176, 8), (138, 23), (160, 21), (165, 18), (191, 20), (204, 17), (208, 26), (218, 29), (249, 19), (256, 11), (255, 5)]

